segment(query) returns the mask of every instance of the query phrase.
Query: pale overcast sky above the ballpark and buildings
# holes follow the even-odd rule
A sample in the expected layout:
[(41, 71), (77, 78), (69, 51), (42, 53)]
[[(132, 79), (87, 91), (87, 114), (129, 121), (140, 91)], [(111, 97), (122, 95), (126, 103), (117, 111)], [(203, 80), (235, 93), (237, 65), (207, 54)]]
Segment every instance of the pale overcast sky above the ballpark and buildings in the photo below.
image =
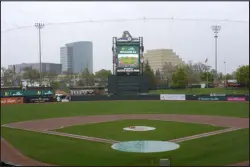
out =
[[(173, 49), (184, 61), (204, 62), (208, 58), (209, 65), (214, 67), (211, 26), (219, 24), (222, 28), (218, 38), (218, 70), (224, 72), (225, 60), (228, 72), (249, 64), (249, 2), (235, 1), (1, 2), (1, 65), (39, 62), (38, 31), (32, 26), (35, 22), (143, 17), (174, 19), (47, 25), (42, 29), (42, 61), (60, 63), (60, 47), (65, 43), (92, 41), (94, 71), (112, 69), (112, 37), (120, 37), (128, 30), (134, 37), (144, 37), (145, 50)], [(10, 30), (22, 26), (31, 27)]]

